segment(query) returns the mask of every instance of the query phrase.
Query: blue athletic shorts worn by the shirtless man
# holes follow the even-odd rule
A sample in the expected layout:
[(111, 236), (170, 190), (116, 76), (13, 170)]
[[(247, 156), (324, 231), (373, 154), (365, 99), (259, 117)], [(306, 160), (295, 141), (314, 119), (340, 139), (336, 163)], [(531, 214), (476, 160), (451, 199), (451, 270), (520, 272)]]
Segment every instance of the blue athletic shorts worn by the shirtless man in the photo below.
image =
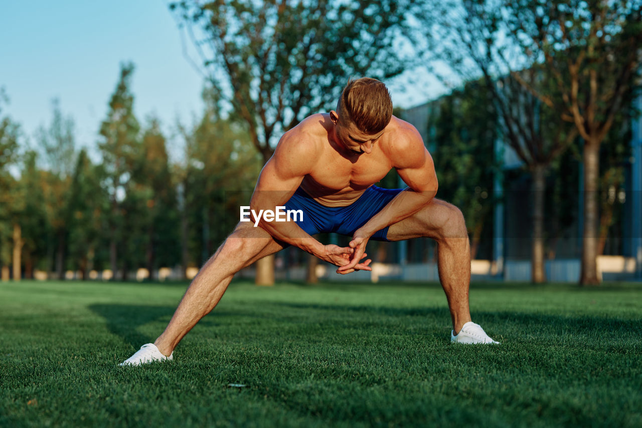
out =
[[(402, 190), (370, 186), (351, 205), (329, 207), (318, 203), (308, 193), (298, 188), (290, 201), (286, 202), (285, 207), (286, 210), (303, 211), (303, 221), (297, 221), (297, 224), (309, 235), (333, 232), (352, 236), (356, 229), (366, 224)], [(370, 239), (387, 241), (388, 227), (390, 226), (376, 231)]]

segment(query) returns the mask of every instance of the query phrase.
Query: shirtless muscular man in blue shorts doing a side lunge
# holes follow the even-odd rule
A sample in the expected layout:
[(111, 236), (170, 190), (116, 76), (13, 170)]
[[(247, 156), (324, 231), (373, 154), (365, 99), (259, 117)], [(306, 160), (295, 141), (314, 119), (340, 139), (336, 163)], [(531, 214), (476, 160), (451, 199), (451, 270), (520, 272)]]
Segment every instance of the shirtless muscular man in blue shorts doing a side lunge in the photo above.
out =
[[(374, 186), (395, 168), (408, 188)], [(437, 175), (419, 132), (392, 116), (385, 85), (350, 81), (336, 111), (313, 114), (286, 132), (265, 164), (250, 208), (302, 210), (303, 219), (239, 222), (189, 285), (165, 331), (122, 364), (172, 359), (184, 335), (216, 306), (239, 270), (287, 245), (296, 245), (348, 274), (370, 271), (370, 239), (427, 236), (438, 243), (438, 269), (451, 312), (454, 343), (497, 343), (471, 321), (468, 235), (461, 211), (435, 199)], [(259, 215), (260, 217), (260, 215)], [(349, 247), (324, 245), (311, 235), (352, 236)]]

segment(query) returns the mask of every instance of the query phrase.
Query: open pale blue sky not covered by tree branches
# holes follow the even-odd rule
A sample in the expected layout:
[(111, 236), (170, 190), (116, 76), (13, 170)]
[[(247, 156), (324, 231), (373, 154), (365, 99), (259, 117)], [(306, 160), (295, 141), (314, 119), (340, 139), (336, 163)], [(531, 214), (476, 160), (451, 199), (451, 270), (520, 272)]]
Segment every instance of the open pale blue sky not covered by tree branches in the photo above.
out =
[[(94, 147), (123, 61), (136, 66), (132, 91), (141, 122), (153, 113), (169, 134), (175, 118), (190, 121), (201, 111), (202, 78), (183, 55), (167, 1), (3, 2), (0, 87), (10, 98), (3, 110), (32, 145), (35, 130), (51, 120), (51, 100), (59, 98), (76, 124), (76, 144)], [(410, 107), (438, 91), (426, 78), (419, 81), (420, 88), (406, 93), (388, 82), (395, 105)]]

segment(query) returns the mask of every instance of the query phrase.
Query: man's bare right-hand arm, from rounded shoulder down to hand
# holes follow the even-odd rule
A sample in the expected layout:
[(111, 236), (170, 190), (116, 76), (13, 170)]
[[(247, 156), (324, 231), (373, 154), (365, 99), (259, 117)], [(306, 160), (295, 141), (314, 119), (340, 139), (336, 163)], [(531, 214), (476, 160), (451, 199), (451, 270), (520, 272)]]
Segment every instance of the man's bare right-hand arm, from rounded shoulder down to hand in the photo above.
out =
[(376, 215), (354, 232), (350, 247), (354, 248), (352, 262), (342, 266), (337, 272), (345, 274), (353, 271), (353, 264), (365, 252), (365, 246), (370, 236), (386, 226), (400, 222), (421, 210), (435, 195), (437, 195), (437, 174), (433, 158), (424, 147), (419, 137), (411, 136), (395, 150), (394, 166), (408, 187), (399, 192), (392, 201), (388, 202)]

